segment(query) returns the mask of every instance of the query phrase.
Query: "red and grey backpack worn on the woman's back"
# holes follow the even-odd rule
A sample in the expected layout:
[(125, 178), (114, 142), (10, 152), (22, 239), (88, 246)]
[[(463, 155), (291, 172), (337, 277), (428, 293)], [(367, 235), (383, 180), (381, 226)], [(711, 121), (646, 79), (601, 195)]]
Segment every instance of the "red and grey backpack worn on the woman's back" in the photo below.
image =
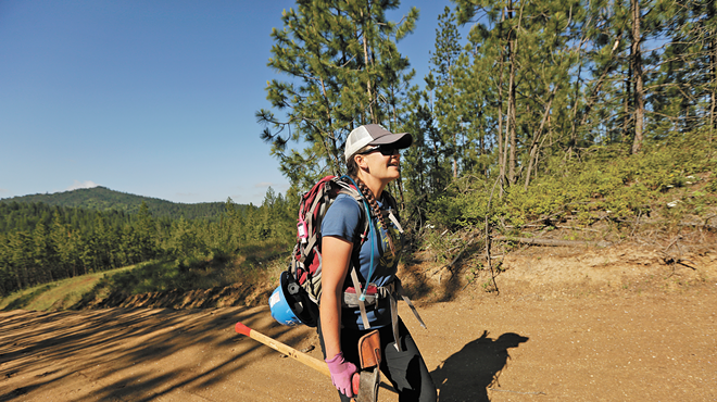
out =
[(364, 197), (352, 181), (348, 176), (326, 176), (304, 193), (299, 203), (297, 243), (289, 267), (281, 273), (280, 288), (293, 315), (310, 327), (316, 326), (322, 296), (322, 222), (340, 193), (352, 197), (364, 206), (361, 209), (364, 230), (354, 246), (363, 244), (370, 233), (370, 219), (366, 218), (370, 210), (364, 205)]

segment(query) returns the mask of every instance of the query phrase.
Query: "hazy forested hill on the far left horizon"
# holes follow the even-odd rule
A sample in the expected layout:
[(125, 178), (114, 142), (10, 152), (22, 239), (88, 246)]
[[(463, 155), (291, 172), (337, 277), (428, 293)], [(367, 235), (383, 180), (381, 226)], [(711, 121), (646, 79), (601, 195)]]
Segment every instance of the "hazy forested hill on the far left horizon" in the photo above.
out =
[(142, 204), (147, 203), (154, 217), (168, 217), (176, 219), (215, 219), (225, 211), (224, 202), (203, 202), (197, 204), (183, 204), (160, 200), (156, 198), (129, 194), (114, 191), (105, 187), (84, 188), (72, 191), (32, 194), (0, 199), (0, 203), (43, 203), (63, 208), (81, 208), (97, 211), (118, 211), (136, 214)]

